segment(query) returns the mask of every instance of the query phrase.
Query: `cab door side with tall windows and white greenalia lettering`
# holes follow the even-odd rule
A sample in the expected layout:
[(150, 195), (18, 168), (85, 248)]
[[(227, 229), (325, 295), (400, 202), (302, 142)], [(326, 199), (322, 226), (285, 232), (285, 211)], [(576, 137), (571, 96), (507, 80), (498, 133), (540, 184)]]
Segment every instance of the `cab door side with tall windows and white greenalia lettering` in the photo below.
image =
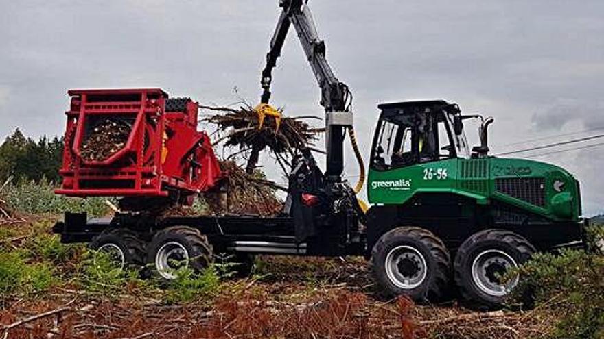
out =
[(457, 163), (452, 128), (442, 110), (382, 114), (369, 168), (369, 202), (402, 204), (417, 192), (451, 192)]

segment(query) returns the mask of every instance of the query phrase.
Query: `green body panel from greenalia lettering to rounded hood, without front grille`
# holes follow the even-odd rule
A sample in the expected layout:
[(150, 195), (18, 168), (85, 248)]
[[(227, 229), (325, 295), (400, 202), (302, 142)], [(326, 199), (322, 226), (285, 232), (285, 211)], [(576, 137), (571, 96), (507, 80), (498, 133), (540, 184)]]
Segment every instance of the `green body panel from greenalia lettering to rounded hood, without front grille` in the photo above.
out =
[[(498, 178), (544, 179), (539, 185), (544, 190), (544, 205), (498, 192)], [(502, 201), (551, 221), (578, 221), (581, 216), (581, 198), (574, 177), (563, 168), (532, 160), (454, 158), (387, 171), (370, 168), (367, 191), (373, 204), (404, 204), (415, 194), (446, 192), (475, 199), (480, 205)]]

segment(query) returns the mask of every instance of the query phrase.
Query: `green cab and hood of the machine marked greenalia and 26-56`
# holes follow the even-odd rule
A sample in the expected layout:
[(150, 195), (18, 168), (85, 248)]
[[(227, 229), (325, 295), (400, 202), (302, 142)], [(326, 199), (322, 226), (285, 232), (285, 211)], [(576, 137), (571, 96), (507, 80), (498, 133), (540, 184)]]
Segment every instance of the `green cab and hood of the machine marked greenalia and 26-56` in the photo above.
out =
[(404, 205), (421, 194), (446, 193), (483, 207), (501, 203), (550, 221), (578, 221), (579, 184), (570, 173), (543, 162), (490, 157), (484, 142), (471, 153), (459, 128), (467, 117), (457, 105), (411, 101), (380, 108), (367, 185), (371, 203)]

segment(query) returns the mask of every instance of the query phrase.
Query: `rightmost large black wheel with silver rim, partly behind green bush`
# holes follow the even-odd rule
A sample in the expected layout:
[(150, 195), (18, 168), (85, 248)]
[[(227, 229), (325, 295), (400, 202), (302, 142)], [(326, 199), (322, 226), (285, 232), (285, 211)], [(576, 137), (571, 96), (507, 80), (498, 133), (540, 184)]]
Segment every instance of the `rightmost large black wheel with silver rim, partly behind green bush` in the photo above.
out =
[(528, 240), (504, 229), (473, 234), (459, 247), (453, 265), (461, 297), (470, 307), (501, 307), (518, 278), (506, 284), (499, 277), (529, 260), (535, 251)]

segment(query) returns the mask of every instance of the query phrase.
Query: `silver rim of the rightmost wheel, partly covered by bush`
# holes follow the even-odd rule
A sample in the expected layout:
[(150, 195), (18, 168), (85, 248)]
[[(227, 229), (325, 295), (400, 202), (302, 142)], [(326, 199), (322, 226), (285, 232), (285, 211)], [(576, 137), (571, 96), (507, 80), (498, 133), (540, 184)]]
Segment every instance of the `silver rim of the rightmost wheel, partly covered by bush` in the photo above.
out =
[(515, 260), (503, 251), (489, 249), (476, 256), (472, 263), (472, 279), (476, 286), (493, 297), (503, 297), (518, 284), (518, 276), (507, 283), (500, 281), (509, 268), (516, 268)]

